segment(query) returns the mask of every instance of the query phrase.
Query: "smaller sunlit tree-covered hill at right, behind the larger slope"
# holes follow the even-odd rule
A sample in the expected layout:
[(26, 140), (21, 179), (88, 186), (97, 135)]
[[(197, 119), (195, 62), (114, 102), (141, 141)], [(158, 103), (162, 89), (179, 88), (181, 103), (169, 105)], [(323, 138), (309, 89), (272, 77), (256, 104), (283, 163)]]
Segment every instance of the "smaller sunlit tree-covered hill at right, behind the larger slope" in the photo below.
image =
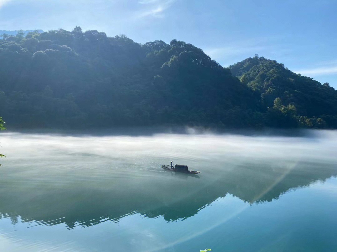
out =
[[(277, 101), (276, 106), (296, 109), (296, 115), (321, 118), (328, 126), (337, 126), (337, 91), (329, 83), (322, 85), (312, 78), (293, 73), (275, 60), (258, 55), (229, 66), (229, 69), (254, 91), (262, 111), (267, 111)], [(305, 117), (298, 118), (300, 124), (322, 123), (321, 120), (305, 122), (308, 119)]]

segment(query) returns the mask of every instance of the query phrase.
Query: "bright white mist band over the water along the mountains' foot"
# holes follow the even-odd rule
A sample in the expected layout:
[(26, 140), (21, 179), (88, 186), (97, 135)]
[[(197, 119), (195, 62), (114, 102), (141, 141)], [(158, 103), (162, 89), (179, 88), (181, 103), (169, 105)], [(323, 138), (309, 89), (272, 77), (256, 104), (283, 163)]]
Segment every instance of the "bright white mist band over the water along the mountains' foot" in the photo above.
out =
[[(57, 155), (96, 155), (116, 158), (163, 156), (169, 159), (205, 158), (209, 154), (255, 159), (335, 158), (337, 131), (307, 130), (299, 136), (255, 134), (153, 134), (128, 135), (71, 135), (1, 133), (1, 151), (13, 158), (43, 158)], [(291, 131), (290, 131), (291, 132)], [(331, 154), (331, 155), (330, 155)], [(62, 162), (62, 160), (60, 160)], [(150, 162), (151, 163), (151, 162)]]

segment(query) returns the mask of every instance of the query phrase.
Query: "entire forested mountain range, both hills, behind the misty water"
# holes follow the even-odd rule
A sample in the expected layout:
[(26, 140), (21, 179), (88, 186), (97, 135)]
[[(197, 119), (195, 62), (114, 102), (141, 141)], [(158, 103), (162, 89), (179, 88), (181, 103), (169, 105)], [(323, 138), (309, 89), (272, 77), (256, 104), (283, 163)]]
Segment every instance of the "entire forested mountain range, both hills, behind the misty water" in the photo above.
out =
[(257, 56), (223, 68), (177, 40), (18, 33), (0, 40), (0, 76), (0, 115), (12, 127), (337, 127), (328, 85)]

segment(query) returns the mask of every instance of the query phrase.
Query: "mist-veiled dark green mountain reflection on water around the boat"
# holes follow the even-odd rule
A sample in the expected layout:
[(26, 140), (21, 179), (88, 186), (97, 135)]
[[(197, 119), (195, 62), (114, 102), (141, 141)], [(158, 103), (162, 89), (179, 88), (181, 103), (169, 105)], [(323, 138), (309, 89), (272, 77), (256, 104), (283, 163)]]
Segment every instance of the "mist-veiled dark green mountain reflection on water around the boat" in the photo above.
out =
[[(15, 223), (90, 226), (139, 213), (186, 219), (227, 194), (270, 202), (337, 174), (335, 131), (231, 134), (1, 134), (0, 213)], [(161, 169), (187, 164), (198, 176)]]

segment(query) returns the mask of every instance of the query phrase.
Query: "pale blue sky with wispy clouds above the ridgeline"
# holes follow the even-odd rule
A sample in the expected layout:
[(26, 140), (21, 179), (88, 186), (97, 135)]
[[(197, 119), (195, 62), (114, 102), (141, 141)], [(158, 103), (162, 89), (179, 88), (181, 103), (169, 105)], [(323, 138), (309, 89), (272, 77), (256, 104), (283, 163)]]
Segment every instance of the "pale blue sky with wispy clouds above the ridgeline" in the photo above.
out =
[(98, 30), (183, 40), (222, 66), (255, 53), (337, 88), (337, 1), (0, 0), (0, 30)]

